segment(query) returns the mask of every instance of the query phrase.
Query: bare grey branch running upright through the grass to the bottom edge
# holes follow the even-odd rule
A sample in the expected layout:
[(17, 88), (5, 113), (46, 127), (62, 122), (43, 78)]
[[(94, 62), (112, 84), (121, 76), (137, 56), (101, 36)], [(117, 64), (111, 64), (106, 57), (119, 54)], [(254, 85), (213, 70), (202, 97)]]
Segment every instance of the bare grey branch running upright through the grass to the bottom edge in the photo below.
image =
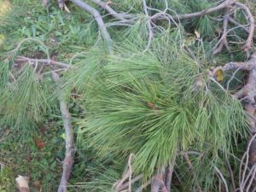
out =
[(71, 125), (71, 116), (68, 112), (67, 103), (65, 102), (65, 98), (63, 97), (63, 93), (61, 90), (61, 79), (60, 76), (53, 72), (52, 79), (55, 81), (56, 90), (58, 93), (58, 100), (60, 102), (60, 109), (61, 115), (63, 120), (63, 125), (65, 128), (65, 135), (66, 135), (66, 152), (65, 152), (65, 159), (62, 165), (62, 176), (61, 176), (61, 183), (59, 185), (58, 192), (67, 192), (67, 182), (72, 172), (73, 167), (73, 154), (75, 151), (75, 145), (73, 141), (73, 129)]

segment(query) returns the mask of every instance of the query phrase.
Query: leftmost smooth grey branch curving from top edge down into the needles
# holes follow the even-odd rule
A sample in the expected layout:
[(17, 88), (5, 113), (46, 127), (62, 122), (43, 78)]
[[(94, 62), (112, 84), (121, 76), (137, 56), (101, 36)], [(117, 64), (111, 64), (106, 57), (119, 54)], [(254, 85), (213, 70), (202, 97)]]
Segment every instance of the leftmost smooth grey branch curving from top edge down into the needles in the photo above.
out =
[(107, 28), (105, 26), (104, 21), (102, 20), (102, 15), (100, 15), (100, 13), (94, 9), (93, 7), (91, 7), (89, 4), (84, 3), (81, 0), (70, 0), (71, 2), (75, 3), (76, 5), (78, 5), (81, 9), (84, 9), (85, 11), (87, 11), (88, 13), (90, 13), (90, 15), (93, 15), (100, 31), (102, 32), (102, 36), (103, 38), (106, 40), (107, 45), (108, 45), (108, 51), (110, 54), (113, 54), (113, 40), (110, 38), (110, 35), (107, 31)]

